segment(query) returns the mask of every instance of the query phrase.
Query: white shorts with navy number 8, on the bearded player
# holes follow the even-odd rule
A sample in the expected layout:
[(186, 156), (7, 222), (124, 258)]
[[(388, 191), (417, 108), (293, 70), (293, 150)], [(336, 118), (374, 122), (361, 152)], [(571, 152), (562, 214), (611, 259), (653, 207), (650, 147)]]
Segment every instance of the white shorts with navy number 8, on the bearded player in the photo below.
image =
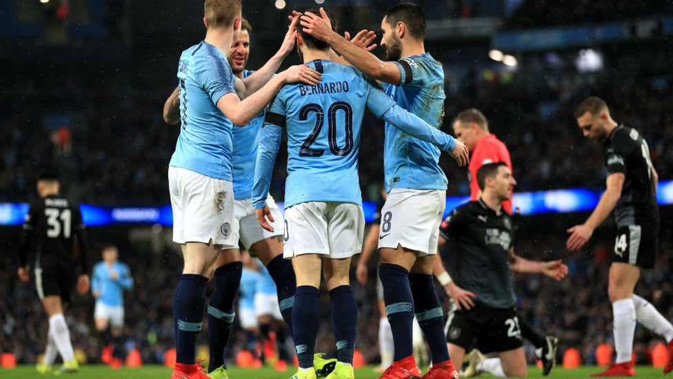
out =
[(436, 254), (446, 191), (393, 188), (381, 209), (379, 249), (405, 249), (419, 256)]

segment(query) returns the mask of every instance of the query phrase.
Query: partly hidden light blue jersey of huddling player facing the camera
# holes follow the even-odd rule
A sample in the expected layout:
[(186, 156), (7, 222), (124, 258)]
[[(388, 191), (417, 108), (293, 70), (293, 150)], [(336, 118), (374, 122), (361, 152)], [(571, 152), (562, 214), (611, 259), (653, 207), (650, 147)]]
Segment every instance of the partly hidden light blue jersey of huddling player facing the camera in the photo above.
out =
[[(243, 70), (243, 78), (252, 75), (252, 70)], [(259, 130), (264, 122), (266, 108), (250, 120), (243, 128), (234, 126), (233, 180), (234, 199), (243, 200), (252, 197), (252, 183), (254, 182), (254, 163), (257, 158), (259, 145)]]

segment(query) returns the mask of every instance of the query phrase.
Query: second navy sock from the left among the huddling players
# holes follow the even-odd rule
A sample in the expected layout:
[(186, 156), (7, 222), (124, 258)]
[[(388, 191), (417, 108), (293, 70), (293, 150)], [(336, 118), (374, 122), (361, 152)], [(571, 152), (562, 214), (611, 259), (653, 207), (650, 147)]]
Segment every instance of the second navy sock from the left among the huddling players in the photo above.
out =
[(224, 365), (224, 349), (229, 342), (234, 323), (234, 302), (241, 285), (241, 262), (231, 262), (215, 270), (213, 280), (215, 290), (208, 302), (208, 344), (210, 362), (208, 372)]

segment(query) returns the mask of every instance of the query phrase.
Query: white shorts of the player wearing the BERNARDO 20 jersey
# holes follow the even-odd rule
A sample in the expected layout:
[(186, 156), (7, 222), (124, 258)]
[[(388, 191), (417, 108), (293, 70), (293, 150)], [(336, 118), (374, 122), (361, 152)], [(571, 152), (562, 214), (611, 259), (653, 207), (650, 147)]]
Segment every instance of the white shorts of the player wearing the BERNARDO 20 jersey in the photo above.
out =
[(283, 257), (324, 254), (352, 257), (362, 251), (365, 216), (362, 206), (342, 202), (306, 202), (285, 209)]

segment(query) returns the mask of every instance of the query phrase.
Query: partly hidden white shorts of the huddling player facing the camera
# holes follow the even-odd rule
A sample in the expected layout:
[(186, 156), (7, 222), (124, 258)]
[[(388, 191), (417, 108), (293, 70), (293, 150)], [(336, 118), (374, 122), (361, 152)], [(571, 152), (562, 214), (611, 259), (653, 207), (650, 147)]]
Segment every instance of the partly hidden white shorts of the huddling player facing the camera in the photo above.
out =
[(274, 217), (274, 222), (269, 222), (274, 228), (273, 233), (259, 226), (257, 216), (252, 209), (252, 199), (234, 200), (232, 234), (234, 239), (240, 240), (243, 247), (248, 251), (255, 242), (266, 240), (275, 235), (283, 235), (283, 215), (271, 195), (266, 198), (266, 205), (269, 206), (271, 215)]

